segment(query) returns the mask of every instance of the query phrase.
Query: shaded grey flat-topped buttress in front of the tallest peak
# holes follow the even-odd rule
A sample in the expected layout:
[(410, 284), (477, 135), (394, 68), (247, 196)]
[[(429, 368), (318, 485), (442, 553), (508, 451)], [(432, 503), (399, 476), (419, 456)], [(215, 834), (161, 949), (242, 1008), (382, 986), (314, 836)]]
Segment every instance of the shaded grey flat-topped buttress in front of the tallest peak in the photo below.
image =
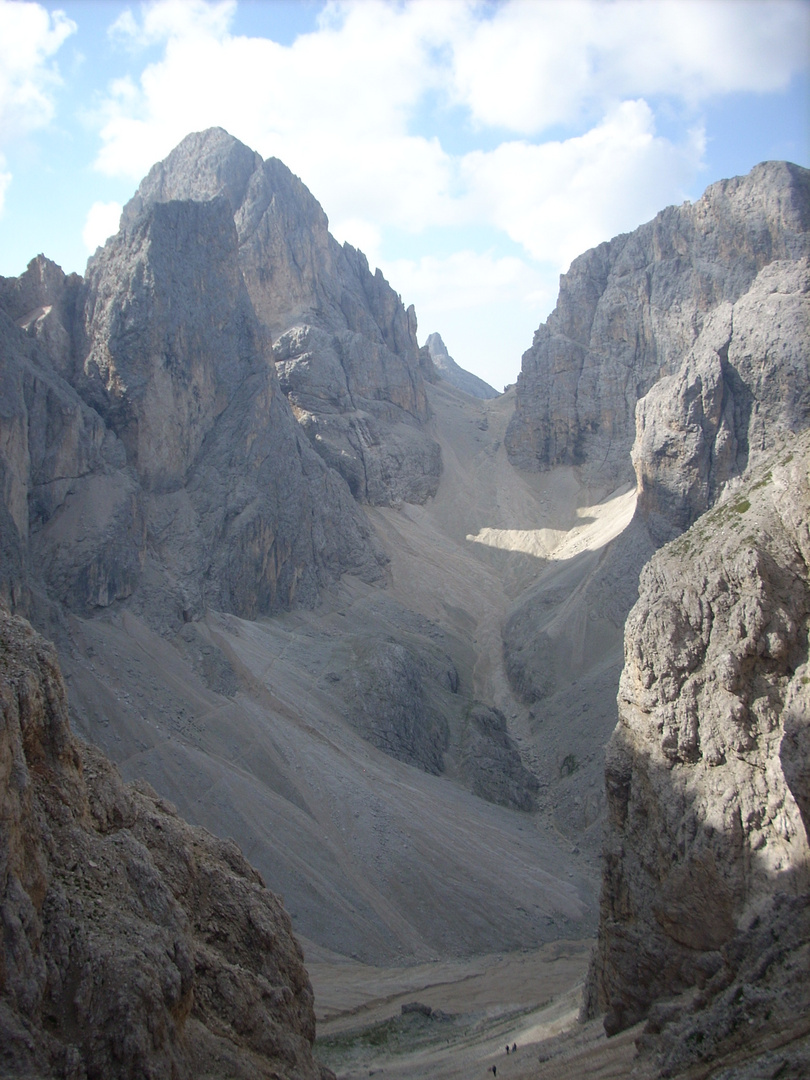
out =
[[(147, 205), (91, 264), (78, 376), (126, 447), (183, 610), (255, 616), (379, 572), (262, 347), (227, 201)], [(188, 616), (185, 616), (188, 617)]]

